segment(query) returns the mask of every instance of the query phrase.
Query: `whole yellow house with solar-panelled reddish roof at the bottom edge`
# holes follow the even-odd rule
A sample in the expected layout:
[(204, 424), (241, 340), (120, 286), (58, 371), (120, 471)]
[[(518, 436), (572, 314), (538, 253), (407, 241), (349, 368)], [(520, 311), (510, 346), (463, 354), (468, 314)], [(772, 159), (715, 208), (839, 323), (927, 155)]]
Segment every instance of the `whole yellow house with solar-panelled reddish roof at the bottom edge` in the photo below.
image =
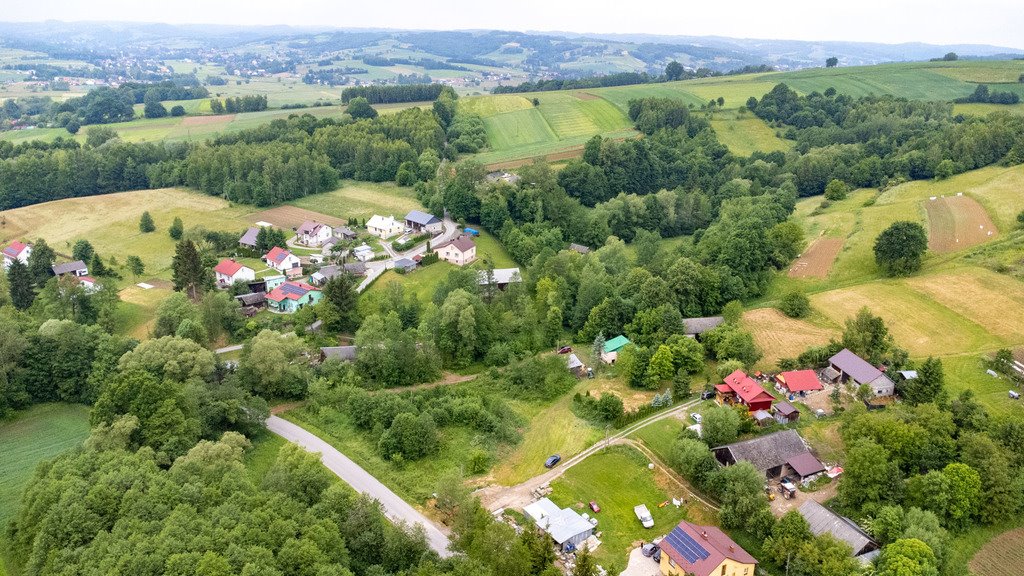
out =
[(658, 543), (664, 576), (753, 576), (758, 561), (716, 526), (685, 520)]

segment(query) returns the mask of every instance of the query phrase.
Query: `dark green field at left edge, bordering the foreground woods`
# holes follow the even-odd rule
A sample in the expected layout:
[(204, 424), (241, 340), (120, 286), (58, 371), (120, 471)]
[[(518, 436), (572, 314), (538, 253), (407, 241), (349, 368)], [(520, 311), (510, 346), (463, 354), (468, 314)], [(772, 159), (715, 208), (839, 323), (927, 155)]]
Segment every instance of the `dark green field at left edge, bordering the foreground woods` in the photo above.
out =
[[(4, 573), (7, 523), (17, 512), (36, 465), (79, 446), (89, 436), (89, 409), (72, 404), (41, 404), (0, 421), (0, 574)], [(6, 567), (11, 569), (13, 567)]]

